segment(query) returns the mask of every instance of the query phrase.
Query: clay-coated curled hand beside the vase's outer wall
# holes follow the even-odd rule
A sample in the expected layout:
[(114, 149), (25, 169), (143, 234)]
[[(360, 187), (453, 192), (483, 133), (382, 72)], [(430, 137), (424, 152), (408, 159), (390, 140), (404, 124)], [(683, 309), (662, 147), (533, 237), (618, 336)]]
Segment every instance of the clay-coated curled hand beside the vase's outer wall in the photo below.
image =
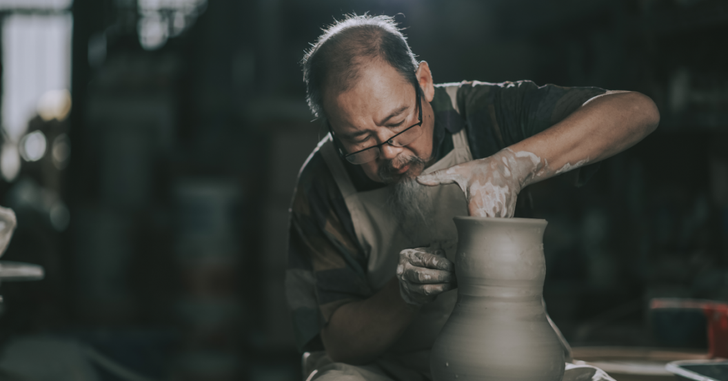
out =
[(411, 305), (423, 305), (456, 287), (455, 265), (445, 257), (443, 249), (405, 249), (400, 252), (397, 279), (402, 299)]

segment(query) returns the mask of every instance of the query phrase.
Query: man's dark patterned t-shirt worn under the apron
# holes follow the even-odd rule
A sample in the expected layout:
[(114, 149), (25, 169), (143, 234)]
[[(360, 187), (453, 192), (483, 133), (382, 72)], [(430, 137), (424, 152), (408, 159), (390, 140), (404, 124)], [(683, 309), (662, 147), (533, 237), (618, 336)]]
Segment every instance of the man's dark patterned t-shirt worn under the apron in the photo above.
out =
[[(430, 105), (435, 113), (433, 147), (440, 159), (453, 149), (452, 135), (466, 129), (473, 159), (483, 159), (525, 140), (569, 116), (596, 95), (596, 87), (538, 87), (531, 81), (462, 82), (455, 111), (442, 86), (435, 87)], [(369, 179), (361, 167), (342, 160), (358, 191), (386, 186)], [(582, 185), (598, 164), (577, 169)], [(516, 214), (530, 217), (526, 190), (518, 197)], [(397, 254), (397, 253), (395, 253)], [(336, 308), (371, 297), (367, 258), (357, 241), (344, 198), (318, 151), (298, 175), (290, 209), (286, 296), (299, 350), (323, 348), (318, 334)]]

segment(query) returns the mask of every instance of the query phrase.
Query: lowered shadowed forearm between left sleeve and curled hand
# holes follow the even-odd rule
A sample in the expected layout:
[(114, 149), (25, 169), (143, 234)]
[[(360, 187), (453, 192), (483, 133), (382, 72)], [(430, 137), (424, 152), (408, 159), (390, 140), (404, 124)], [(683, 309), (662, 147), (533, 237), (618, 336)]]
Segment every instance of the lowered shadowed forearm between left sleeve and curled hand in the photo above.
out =
[(321, 329), (321, 340), (333, 361), (365, 364), (384, 353), (404, 332), (416, 307), (400, 297), (397, 278), (360, 302), (342, 305)]

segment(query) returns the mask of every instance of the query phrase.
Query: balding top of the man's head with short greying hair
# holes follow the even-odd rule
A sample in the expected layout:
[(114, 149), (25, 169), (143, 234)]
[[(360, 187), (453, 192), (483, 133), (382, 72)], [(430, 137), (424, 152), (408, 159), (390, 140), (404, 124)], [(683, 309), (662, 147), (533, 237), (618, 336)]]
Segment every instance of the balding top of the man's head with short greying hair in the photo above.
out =
[(303, 60), (306, 100), (312, 113), (324, 116), (325, 91), (347, 91), (360, 78), (362, 68), (381, 62), (417, 84), (417, 60), (393, 17), (353, 15), (326, 28)]

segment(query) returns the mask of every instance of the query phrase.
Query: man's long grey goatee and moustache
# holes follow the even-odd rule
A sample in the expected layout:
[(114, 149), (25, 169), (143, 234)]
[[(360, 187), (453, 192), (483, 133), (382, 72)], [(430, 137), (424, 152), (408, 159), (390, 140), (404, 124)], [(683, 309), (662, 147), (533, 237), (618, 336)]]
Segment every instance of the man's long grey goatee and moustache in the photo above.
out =
[[(407, 172), (397, 174), (394, 164), (402, 168), (409, 165)], [(405, 235), (414, 239), (422, 236), (430, 227), (435, 208), (432, 204), (427, 186), (417, 183), (416, 177), (424, 170), (427, 160), (418, 156), (397, 156), (394, 160), (382, 164), (377, 175), (384, 183), (390, 185), (387, 207), (392, 211)], [(418, 234), (419, 233), (419, 234)]]

